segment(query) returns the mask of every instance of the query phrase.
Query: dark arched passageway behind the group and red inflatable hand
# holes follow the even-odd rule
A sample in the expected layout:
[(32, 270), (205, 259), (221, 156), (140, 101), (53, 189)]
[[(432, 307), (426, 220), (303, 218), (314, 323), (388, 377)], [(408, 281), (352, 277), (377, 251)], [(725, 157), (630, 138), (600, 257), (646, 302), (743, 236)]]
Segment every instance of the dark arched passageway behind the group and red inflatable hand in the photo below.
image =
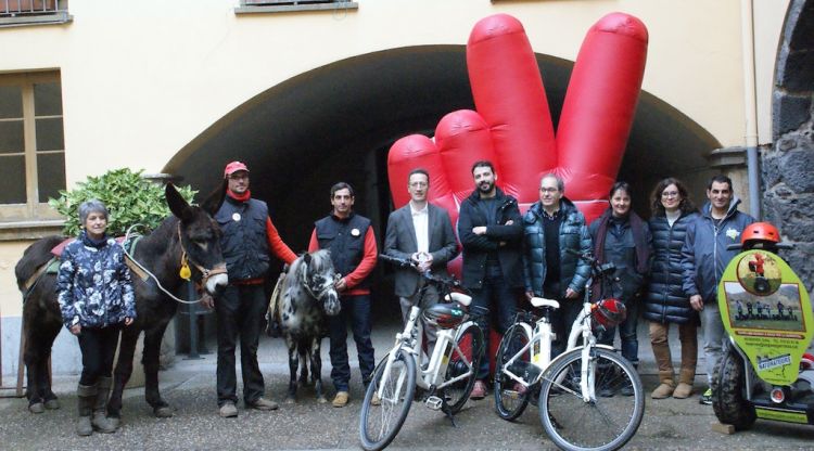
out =
[[(539, 54), (537, 61), (557, 123), (573, 63)], [(381, 243), (392, 209), (387, 149), (409, 133), (432, 134), (438, 119), (460, 108), (473, 108), (463, 46), (359, 55), (258, 94), (185, 146), (165, 171), (208, 192), (227, 162), (247, 162), (252, 194), (268, 202), (294, 249), (307, 246), (314, 220), (330, 209), (331, 184), (343, 180), (356, 188), (356, 209), (373, 219)], [(648, 214), (660, 178), (683, 178), (702, 195), (707, 156), (717, 147), (709, 132), (643, 92), (620, 179), (633, 184), (636, 209)], [(384, 283), (379, 293), (392, 293)]]

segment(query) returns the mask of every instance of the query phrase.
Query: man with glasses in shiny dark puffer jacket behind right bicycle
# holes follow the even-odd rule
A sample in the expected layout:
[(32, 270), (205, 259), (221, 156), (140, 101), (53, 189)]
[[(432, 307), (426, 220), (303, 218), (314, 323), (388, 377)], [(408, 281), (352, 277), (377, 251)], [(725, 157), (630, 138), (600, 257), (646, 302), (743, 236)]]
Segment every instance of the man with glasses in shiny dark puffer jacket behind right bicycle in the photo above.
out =
[(590, 234), (585, 217), (565, 198), (565, 184), (552, 173), (539, 181), (539, 202), (523, 217), (523, 275), (525, 296), (557, 299), (560, 308), (551, 315), (557, 334), (551, 358), (565, 349), (571, 324), (580, 314), (580, 293), (590, 267), (573, 253), (589, 253)]

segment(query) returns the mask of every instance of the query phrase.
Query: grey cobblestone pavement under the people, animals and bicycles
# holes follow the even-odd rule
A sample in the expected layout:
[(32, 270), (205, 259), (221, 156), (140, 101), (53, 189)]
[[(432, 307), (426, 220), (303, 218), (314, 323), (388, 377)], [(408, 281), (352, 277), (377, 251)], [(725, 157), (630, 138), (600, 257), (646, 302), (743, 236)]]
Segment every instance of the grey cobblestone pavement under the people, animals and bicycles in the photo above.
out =
[[(381, 353), (391, 345), (395, 328), (377, 332), (374, 345)], [(641, 335), (641, 334), (640, 334)], [(647, 335), (645, 334), (645, 337)], [(356, 356), (349, 346), (352, 362)], [(656, 385), (649, 344), (643, 342), (640, 372), (649, 394)], [(282, 340), (265, 338), (260, 344), (262, 370), (267, 396), (281, 400), (288, 385), (288, 364)], [(322, 379), (330, 387), (330, 363), (323, 357)], [(699, 368), (703, 368), (699, 362)], [(33, 415), (23, 399), (0, 399), (0, 450), (328, 450), (359, 449), (358, 418), (361, 385), (353, 368), (351, 403), (344, 409), (319, 404), (310, 388), (300, 391), (300, 402), (281, 404), (275, 412), (249, 411), (240, 407), (237, 418), (217, 416), (215, 400), (215, 357), (183, 360), (160, 374), (164, 398), (176, 409), (171, 418), (155, 418), (143, 400), (143, 389), (125, 392), (123, 427), (116, 434), (74, 434), (76, 375), (54, 376), (54, 388), (62, 409)], [(696, 391), (704, 387), (696, 379)], [(10, 395), (8, 391), (2, 395)], [(803, 450), (814, 447), (814, 427), (759, 421), (749, 431), (732, 436), (711, 429), (715, 420), (710, 407), (698, 403), (698, 394), (687, 400), (654, 401), (648, 396), (645, 420), (627, 449), (707, 450)], [(516, 423), (501, 421), (494, 413), (493, 398), (470, 401), (456, 416), (458, 427), (440, 412), (412, 404), (402, 431), (390, 449), (421, 450), (548, 450), (537, 409), (530, 407)]]

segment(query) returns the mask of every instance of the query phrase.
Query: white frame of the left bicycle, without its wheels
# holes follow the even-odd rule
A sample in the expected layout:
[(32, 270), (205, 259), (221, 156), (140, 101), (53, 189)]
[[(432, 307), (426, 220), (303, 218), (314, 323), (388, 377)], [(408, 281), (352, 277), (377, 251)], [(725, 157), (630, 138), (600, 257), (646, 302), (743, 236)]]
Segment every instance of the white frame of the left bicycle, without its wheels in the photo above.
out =
[[(416, 385), (425, 390), (443, 389), (458, 381), (469, 377), (470, 373), (461, 374), (457, 377), (444, 381), (444, 374), (446, 373), (446, 366), (449, 363), (449, 358), (454, 351), (458, 351), (462, 355), (466, 363), (472, 365), (471, 361), (468, 361), (466, 356), (461, 352), (456, 340), (458, 333), (466, 330), (470, 325), (476, 325), (474, 321), (468, 320), (458, 324), (453, 328), (438, 330), (435, 337), (435, 346), (432, 349), (430, 361), (427, 369), (422, 369), (423, 363), (423, 325), (419, 321), (419, 313), (421, 309), (412, 306), (410, 309), (410, 315), (407, 323), (404, 326), (404, 331), (396, 334), (396, 340), (393, 348), (387, 352), (387, 359), (385, 360), (384, 372), (387, 374), (391, 371), (391, 366), (396, 359), (398, 351), (405, 352), (412, 357), (416, 361)], [(472, 368), (471, 371), (478, 369)], [(404, 376), (399, 377), (395, 392), (400, 392), (402, 384), (404, 384)], [(381, 398), (383, 396), (384, 387), (379, 387), (378, 395)]]

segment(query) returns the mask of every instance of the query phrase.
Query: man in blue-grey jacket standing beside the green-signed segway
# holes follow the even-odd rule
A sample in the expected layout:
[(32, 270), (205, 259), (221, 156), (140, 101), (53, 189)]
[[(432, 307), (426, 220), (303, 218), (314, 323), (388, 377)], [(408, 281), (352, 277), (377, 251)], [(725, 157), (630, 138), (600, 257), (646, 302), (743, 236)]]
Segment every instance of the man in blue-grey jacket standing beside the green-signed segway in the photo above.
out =
[[(682, 248), (684, 292), (690, 306), (701, 315), (703, 353), (707, 359), (707, 382), (712, 385), (712, 372), (721, 359), (724, 323), (717, 308), (717, 284), (729, 261), (739, 250), (727, 246), (740, 243), (740, 234), (754, 222), (751, 216), (738, 211), (738, 199), (733, 193), (732, 180), (723, 175), (713, 177), (707, 185), (710, 199), (701, 215), (687, 226), (687, 236)], [(712, 403), (710, 388), (701, 396), (702, 404)]]

